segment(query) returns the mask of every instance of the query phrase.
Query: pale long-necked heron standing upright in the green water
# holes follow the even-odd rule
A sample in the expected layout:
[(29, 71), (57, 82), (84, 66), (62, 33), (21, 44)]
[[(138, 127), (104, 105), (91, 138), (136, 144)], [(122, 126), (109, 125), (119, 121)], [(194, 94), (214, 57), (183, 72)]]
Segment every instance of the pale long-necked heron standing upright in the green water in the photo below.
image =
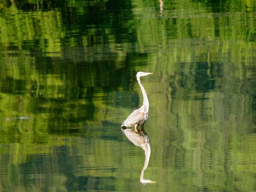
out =
[(134, 131), (136, 133), (139, 133), (139, 130), (137, 129), (137, 127), (139, 125), (141, 125), (141, 130), (144, 131), (144, 123), (146, 122), (147, 118), (148, 118), (148, 109), (150, 108), (150, 104), (148, 103), (148, 99), (146, 96), (146, 92), (145, 89), (143, 88), (141, 82), (140, 82), (140, 77), (141, 76), (146, 76), (146, 75), (150, 75), (153, 73), (145, 73), (145, 72), (138, 72), (136, 77), (137, 77), (137, 81), (140, 85), (140, 89), (142, 91), (143, 94), (143, 105), (137, 109), (134, 110), (133, 113), (131, 113), (122, 123), (121, 127), (131, 127), (134, 126)]

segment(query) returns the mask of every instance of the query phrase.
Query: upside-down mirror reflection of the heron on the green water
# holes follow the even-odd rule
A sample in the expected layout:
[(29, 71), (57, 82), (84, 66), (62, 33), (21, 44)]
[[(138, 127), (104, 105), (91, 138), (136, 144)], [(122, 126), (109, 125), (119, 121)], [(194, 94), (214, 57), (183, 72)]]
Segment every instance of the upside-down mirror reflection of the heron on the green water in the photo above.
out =
[(150, 148), (150, 138), (144, 131), (140, 131), (139, 133), (135, 132), (135, 130), (132, 129), (126, 129), (125, 127), (122, 127), (122, 132), (124, 135), (136, 146), (140, 146), (145, 151), (145, 162), (144, 166), (141, 170), (140, 174), (140, 182), (141, 183), (156, 183), (156, 181), (152, 180), (146, 180), (143, 179), (144, 176), (144, 170), (146, 170), (146, 167), (148, 165), (148, 162), (150, 161), (150, 154), (151, 154), (151, 148)]

